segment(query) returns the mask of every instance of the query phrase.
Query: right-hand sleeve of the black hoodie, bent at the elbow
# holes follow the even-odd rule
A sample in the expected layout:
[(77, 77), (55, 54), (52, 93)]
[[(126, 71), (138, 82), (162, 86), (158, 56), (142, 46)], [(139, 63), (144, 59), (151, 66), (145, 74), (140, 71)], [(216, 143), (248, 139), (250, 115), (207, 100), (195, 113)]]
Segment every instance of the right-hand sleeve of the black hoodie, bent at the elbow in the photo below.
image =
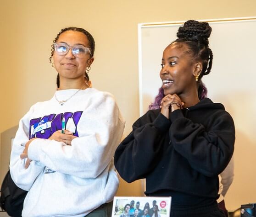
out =
[(194, 123), (173, 111), (169, 134), (173, 147), (190, 166), (206, 176), (219, 175), (234, 152), (235, 129), (232, 117), (224, 110), (212, 114), (210, 127)]

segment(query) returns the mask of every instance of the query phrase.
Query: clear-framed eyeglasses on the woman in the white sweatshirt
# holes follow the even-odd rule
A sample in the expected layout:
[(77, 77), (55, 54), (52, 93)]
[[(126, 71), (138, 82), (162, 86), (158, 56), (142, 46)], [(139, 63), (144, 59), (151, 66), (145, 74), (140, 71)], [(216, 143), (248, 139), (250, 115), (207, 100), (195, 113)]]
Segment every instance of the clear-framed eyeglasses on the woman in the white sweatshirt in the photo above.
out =
[(91, 55), (90, 49), (83, 45), (69, 46), (66, 43), (54, 43), (53, 45), (58, 55), (66, 55), (70, 48), (72, 48), (72, 54), (77, 58), (84, 58), (88, 53)]

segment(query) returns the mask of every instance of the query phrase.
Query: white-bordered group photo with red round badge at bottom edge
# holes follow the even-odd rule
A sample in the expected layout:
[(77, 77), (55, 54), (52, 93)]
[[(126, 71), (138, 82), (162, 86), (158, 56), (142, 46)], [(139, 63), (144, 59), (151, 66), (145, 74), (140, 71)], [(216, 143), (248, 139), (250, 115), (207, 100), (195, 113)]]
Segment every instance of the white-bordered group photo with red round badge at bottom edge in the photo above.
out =
[(171, 201), (171, 197), (115, 196), (112, 217), (169, 217)]

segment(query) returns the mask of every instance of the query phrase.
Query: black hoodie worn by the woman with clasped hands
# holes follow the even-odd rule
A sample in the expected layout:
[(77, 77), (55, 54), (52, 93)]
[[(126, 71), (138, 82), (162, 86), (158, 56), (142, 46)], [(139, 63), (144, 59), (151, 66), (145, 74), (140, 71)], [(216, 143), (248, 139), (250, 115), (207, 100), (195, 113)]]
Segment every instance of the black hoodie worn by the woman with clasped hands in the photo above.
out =
[(208, 98), (169, 119), (150, 110), (118, 146), (115, 166), (127, 182), (145, 178), (147, 196), (216, 200), (218, 175), (232, 157), (234, 140), (232, 117)]

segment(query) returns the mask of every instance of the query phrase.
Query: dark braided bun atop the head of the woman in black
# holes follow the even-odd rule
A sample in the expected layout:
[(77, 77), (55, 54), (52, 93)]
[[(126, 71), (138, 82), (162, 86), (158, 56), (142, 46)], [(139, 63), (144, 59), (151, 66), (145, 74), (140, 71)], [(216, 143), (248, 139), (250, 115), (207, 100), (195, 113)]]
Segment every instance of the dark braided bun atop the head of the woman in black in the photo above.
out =
[(189, 41), (198, 41), (209, 45), (208, 37), (211, 35), (211, 26), (207, 22), (189, 20), (178, 28), (177, 37)]

